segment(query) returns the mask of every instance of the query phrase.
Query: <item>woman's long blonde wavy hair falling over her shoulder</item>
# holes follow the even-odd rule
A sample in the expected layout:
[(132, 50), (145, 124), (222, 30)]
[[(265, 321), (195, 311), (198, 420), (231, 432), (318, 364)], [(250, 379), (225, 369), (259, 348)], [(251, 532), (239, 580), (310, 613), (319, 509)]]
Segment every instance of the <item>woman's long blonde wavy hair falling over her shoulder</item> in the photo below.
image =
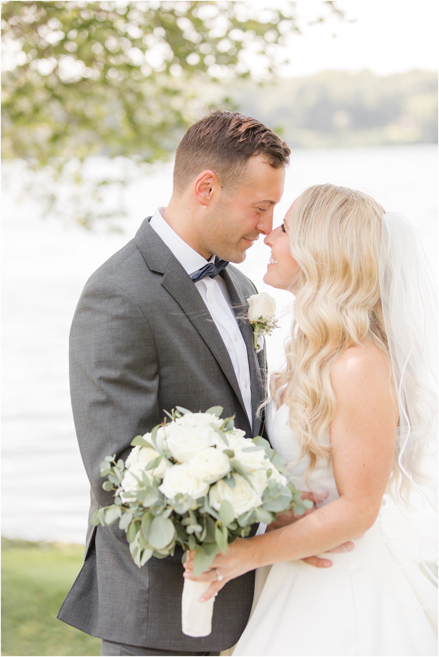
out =
[[(392, 376), (379, 284), (383, 214), (371, 196), (330, 184), (309, 187), (292, 209), (289, 243), (298, 263), (294, 320), (287, 364), (271, 374), (269, 399), (279, 406), (279, 392), (287, 386), (283, 403), (302, 457), (310, 459), (308, 476), (319, 459), (330, 460), (323, 437), (336, 409), (330, 379), (335, 359), (349, 346), (369, 342), (388, 361)], [(396, 453), (389, 490), (399, 489), (402, 478)]]

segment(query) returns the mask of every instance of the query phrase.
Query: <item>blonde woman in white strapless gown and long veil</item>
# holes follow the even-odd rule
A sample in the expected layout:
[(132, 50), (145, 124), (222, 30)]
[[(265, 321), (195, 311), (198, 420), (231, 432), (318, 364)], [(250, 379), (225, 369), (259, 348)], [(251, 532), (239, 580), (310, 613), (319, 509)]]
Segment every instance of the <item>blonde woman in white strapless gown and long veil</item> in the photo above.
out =
[[(212, 581), (204, 599), (257, 569), (234, 655), (437, 654), (434, 576), (419, 568), (436, 517), (421, 472), (436, 411), (434, 295), (413, 239), (401, 215), (335, 185), (307, 189), (265, 239), (264, 281), (296, 296), (287, 365), (266, 402), (269, 440), (296, 488), (326, 499), (237, 539), (198, 578), (185, 563), (185, 577)], [(300, 560), (353, 537), (331, 568)]]

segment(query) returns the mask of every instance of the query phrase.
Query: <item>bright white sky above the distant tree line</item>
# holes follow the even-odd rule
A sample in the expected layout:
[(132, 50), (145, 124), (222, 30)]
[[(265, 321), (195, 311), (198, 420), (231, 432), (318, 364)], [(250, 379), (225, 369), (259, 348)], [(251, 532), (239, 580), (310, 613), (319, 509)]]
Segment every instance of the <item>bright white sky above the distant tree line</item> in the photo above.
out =
[(331, 69), (358, 72), (367, 68), (380, 76), (437, 70), (437, 0), (340, 0), (336, 7), (355, 22), (332, 16), (323, 24), (309, 26), (310, 20), (324, 13), (322, 5), (321, 0), (296, 3), (303, 34), (289, 39), (292, 63), (283, 69), (283, 76)]

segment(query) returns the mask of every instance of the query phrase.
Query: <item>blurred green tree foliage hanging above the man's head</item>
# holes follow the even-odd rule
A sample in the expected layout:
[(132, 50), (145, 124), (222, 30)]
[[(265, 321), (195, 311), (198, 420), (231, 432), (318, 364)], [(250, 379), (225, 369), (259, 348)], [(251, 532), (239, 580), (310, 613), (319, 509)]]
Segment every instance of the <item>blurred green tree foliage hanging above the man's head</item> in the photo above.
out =
[[(282, 7), (261, 10), (238, 0), (2, 3), (3, 158), (77, 183), (89, 156), (166, 160), (196, 117), (202, 85), (248, 78), (256, 58), (261, 77), (275, 77), (279, 46), (299, 31), (295, 3)], [(332, 2), (321, 7), (340, 13)], [(96, 189), (108, 182), (97, 181)]]

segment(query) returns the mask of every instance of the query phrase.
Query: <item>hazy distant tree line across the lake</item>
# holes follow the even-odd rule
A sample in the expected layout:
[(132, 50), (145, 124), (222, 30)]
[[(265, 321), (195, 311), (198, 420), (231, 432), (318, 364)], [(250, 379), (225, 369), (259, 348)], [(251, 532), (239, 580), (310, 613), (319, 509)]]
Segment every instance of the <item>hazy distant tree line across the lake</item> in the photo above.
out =
[(434, 72), (379, 77), (369, 71), (328, 71), (264, 86), (241, 82), (228, 85), (227, 94), (241, 112), (256, 114), (292, 147), (438, 141), (438, 76)]

